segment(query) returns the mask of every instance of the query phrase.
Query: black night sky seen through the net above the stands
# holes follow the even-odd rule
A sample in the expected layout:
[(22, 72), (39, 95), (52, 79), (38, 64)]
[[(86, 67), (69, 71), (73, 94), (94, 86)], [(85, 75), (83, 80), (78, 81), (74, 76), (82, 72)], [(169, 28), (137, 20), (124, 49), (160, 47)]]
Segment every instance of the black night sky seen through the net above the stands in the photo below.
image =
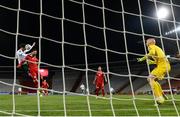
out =
[[(42, 0), (43, 1), (43, 13), (49, 14), (55, 17), (62, 18), (62, 4), (61, 0)], [(82, 1), (82, 0), (76, 0)], [(163, 2), (170, 3), (169, 0), (159, 0)], [(99, 0), (85, 0), (86, 3), (94, 4), (96, 6), (102, 7), (102, 2)], [(116, 11), (122, 11), (120, 0), (105, 0), (105, 7), (113, 9)], [(139, 14), (139, 7), (137, 0), (123, 0), (125, 12)], [(174, 3), (180, 4), (179, 0), (173, 0)], [(17, 9), (18, 0), (1, 0), (0, 4), (5, 5), (10, 8)], [(148, 0), (141, 0), (141, 10), (142, 14), (150, 17), (156, 17), (155, 6), (153, 2)], [(162, 4), (157, 4), (161, 6)], [(39, 13), (40, 3), (39, 0), (21, 0), (21, 9)], [(180, 17), (178, 15), (180, 8), (174, 7), (175, 18), (177, 22), (180, 22)], [(71, 1), (64, 0), (64, 12), (65, 18), (82, 22), (82, 5), (73, 3)], [(118, 31), (123, 31), (122, 24), (122, 14), (113, 13), (111, 11), (105, 10), (105, 20), (106, 27), (116, 29)], [(16, 32), (16, 19), (17, 14), (15, 11), (10, 11), (4, 8), (0, 8), (0, 29)], [(103, 27), (103, 16), (102, 10), (98, 8), (85, 5), (85, 19), (88, 24), (92, 24), (98, 27)], [(172, 13), (168, 17), (172, 20)], [(145, 34), (159, 36), (158, 22), (147, 17), (143, 17), (143, 25)], [(126, 31), (142, 34), (142, 29), (140, 25), (140, 17), (125, 13), (125, 25)], [(177, 24), (178, 25), (178, 24)], [(165, 32), (172, 30), (173, 23), (168, 23), (166, 21), (161, 21), (161, 28), (163, 35), (165, 37), (175, 38), (175, 34), (166, 36)], [(19, 18), (19, 32), (26, 35), (39, 36), (39, 15), (32, 15), (23, 11), (20, 11)], [(178, 33), (180, 34), (180, 33)], [(46, 16), (42, 16), (42, 36), (50, 38), (52, 40), (62, 42), (61, 33), (61, 20), (55, 20)], [(148, 35), (144, 35), (148, 38)], [(178, 35), (180, 36), (180, 35)], [(87, 43), (98, 48), (105, 49), (103, 30), (90, 27), (86, 25), (86, 37)], [(125, 52), (125, 41), (123, 33), (113, 32), (106, 29), (106, 39), (108, 49)], [(64, 20), (64, 40), (65, 42), (71, 42), (75, 44), (84, 44), (83, 37), (83, 26)], [(126, 33), (126, 42), (128, 52), (134, 52), (138, 54), (144, 54), (142, 36), (137, 36), (133, 34)], [(178, 40), (179, 41), (179, 40)], [(36, 42), (36, 48), (38, 48), (38, 39), (28, 38), (22, 35), (18, 36), (18, 44), (20, 43), (33, 43)], [(158, 44), (161, 46), (160, 39), (157, 39)], [(174, 56), (178, 51), (176, 46), (176, 41), (167, 40), (163, 38), (164, 47), (166, 54)], [(43, 62), (50, 63), (53, 65), (62, 65), (62, 50), (61, 44), (57, 44), (51, 41), (41, 40), (41, 59)], [(69, 44), (64, 45), (65, 54), (65, 64), (85, 64), (84, 47), (72, 46)], [(0, 31), (0, 54), (13, 57), (15, 54), (15, 35), (9, 35)], [(88, 63), (104, 63), (105, 52), (99, 51), (90, 47), (87, 47), (87, 57)], [(135, 60), (136, 57), (128, 54), (129, 60)], [(125, 55), (118, 55), (112, 52), (108, 52), (109, 62), (125, 61)], [(14, 61), (0, 57), (0, 66), (13, 66)]]

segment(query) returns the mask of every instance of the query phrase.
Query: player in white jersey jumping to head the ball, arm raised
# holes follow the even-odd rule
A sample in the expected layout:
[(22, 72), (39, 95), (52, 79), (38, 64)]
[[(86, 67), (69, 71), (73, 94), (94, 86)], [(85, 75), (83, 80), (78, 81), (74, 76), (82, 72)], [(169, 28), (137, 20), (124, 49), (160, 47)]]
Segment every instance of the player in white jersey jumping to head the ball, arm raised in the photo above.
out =
[[(16, 52), (16, 56), (17, 56), (19, 64), (25, 59), (25, 57), (27, 56), (26, 53), (29, 52), (35, 46), (35, 44), (36, 44), (35, 42), (32, 44), (32, 46), (29, 46), (29, 44), (26, 44), (26, 45), (25, 44), (20, 44), (20, 48)], [(29, 47), (27, 47), (27, 45)], [(22, 65), (22, 70), (27, 75), (27, 73), (28, 73), (28, 66), (27, 66), (26, 62)]]

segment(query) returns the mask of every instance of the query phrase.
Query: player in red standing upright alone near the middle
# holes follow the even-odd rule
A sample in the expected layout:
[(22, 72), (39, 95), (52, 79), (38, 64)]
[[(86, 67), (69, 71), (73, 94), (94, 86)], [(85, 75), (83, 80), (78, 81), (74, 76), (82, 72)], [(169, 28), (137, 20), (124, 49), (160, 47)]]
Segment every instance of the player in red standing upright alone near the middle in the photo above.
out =
[(96, 85), (96, 95), (99, 95), (99, 91), (102, 90), (102, 95), (104, 96), (104, 81), (106, 82), (106, 77), (104, 72), (102, 71), (101, 66), (98, 67), (98, 71), (96, 73), (93, 84)]

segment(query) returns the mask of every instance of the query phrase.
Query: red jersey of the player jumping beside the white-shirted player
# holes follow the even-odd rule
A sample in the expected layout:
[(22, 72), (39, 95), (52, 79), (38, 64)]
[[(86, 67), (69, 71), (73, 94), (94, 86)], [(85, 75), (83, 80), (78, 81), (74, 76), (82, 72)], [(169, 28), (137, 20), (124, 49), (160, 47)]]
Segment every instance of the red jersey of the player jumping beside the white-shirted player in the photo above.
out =
[(28, 60), (28, 67), (30, 70), (38, 70), (38, 64), (37, 62), (39, 61), (36, 57), (27, 55), (25, 60)]

